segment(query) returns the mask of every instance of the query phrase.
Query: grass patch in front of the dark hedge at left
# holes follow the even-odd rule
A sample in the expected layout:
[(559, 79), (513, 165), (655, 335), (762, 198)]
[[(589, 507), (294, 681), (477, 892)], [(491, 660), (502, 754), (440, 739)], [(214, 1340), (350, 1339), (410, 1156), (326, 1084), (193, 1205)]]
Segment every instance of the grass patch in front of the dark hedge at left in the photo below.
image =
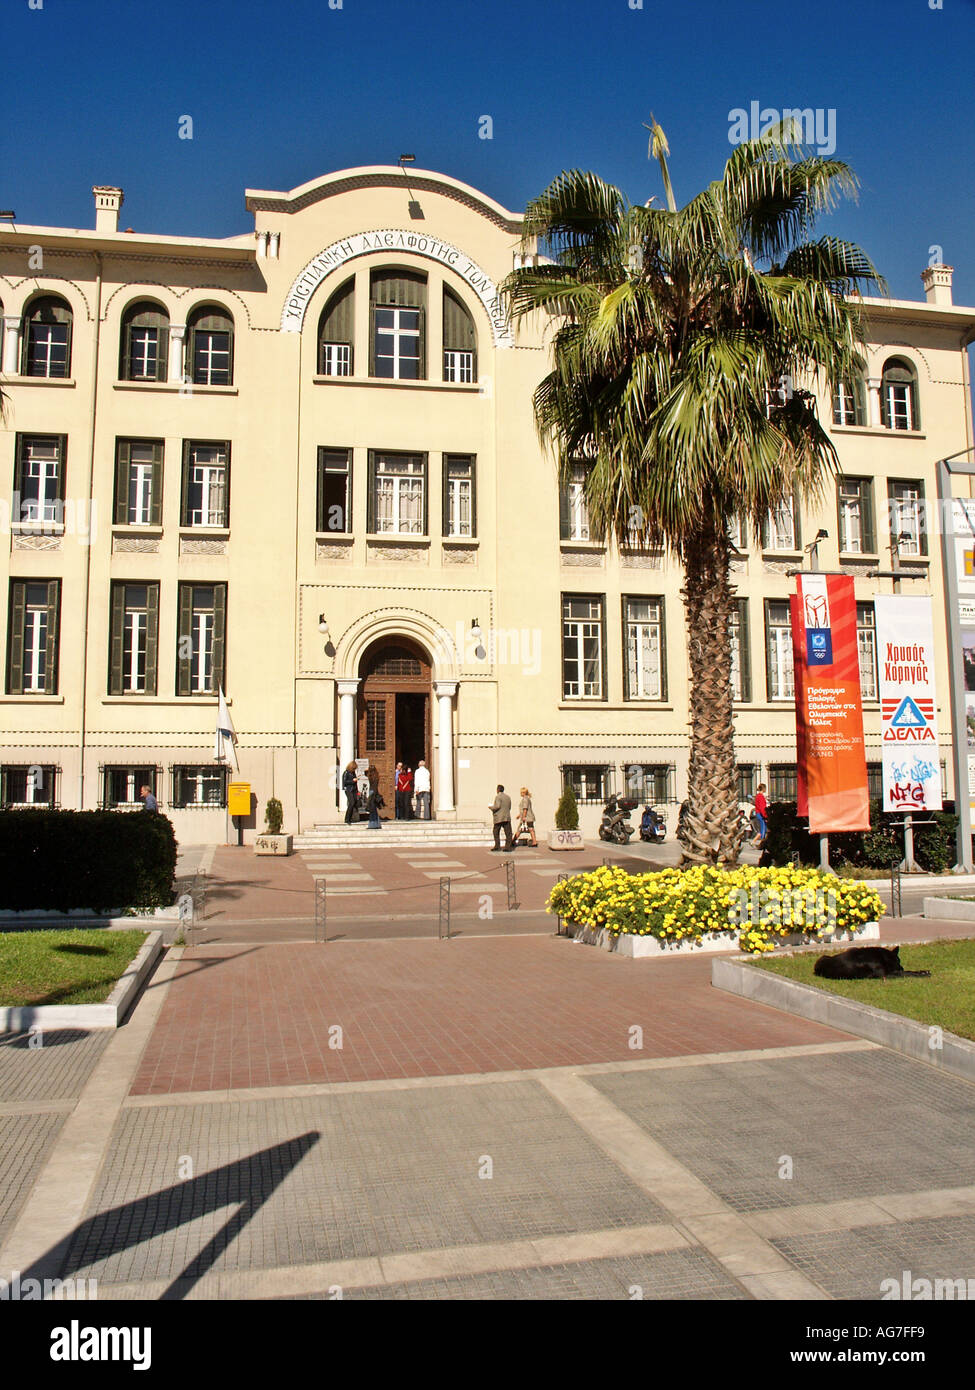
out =
[(146, 931), (0, 933), (0, 1005), (104, 1004)]

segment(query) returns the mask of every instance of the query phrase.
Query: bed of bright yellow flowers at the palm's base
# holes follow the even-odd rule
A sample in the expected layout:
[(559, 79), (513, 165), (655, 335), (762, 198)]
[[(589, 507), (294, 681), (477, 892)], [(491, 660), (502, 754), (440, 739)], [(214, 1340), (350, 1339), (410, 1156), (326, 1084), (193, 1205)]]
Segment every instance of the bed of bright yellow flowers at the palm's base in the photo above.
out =
[(783, 937), (815, 941), (878, 922), (883, 903), (867, 884), (819, 869), (661, 869), (630, 874), (594, 869), (556, 883), (547, 912), (590, 931), (688, 941), (711, 931), (739, 934), (743, 951), (773, 951)]

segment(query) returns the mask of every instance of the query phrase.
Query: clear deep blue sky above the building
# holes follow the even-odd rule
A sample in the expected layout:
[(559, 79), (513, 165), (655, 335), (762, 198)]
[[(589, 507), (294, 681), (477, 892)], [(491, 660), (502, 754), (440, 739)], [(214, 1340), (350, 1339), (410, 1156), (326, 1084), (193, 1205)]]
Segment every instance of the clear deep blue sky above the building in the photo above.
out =
[(729, 113), (758, 101), (835, 121), (861, 193), (829, 231), (893, 295), (922, 297), (939, 246), (975, 304), (975, 0), (637, 3), (3, 0), (0, 206), (90, 227), (92, 183), (118, 183), (122, 227), (231, 236), (253, 227), (245, 188), (405, 152), (512, 208), (572, 167), (643, 202), (662, 192), (651, 110), (683, 202), (720, 172)]

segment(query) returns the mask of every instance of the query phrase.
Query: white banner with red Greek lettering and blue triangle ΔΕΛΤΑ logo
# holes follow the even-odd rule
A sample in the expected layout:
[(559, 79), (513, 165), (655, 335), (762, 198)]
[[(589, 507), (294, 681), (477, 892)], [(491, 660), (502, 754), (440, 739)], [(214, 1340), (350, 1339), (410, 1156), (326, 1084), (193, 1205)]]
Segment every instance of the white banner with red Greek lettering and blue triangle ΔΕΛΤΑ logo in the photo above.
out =
[(883, 809), (940, 810), (935, 630), (929, 598), (878, 595)]

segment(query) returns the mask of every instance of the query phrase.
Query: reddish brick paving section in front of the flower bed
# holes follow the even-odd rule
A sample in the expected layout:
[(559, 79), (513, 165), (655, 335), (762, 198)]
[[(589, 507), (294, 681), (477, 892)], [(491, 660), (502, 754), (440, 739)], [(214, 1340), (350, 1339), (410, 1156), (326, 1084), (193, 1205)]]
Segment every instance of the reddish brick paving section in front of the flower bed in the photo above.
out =
[[(330, 1027), (342, 1047), (330, 1047)], [(643, 1029), (643, 1048), (630, 1031)], [(188, 949), (134, 1094), (523, 1070), (836, 1041), (711, 960), (556, 937)], [(337, 1040), (337, 1034), (331, 1034)]]

